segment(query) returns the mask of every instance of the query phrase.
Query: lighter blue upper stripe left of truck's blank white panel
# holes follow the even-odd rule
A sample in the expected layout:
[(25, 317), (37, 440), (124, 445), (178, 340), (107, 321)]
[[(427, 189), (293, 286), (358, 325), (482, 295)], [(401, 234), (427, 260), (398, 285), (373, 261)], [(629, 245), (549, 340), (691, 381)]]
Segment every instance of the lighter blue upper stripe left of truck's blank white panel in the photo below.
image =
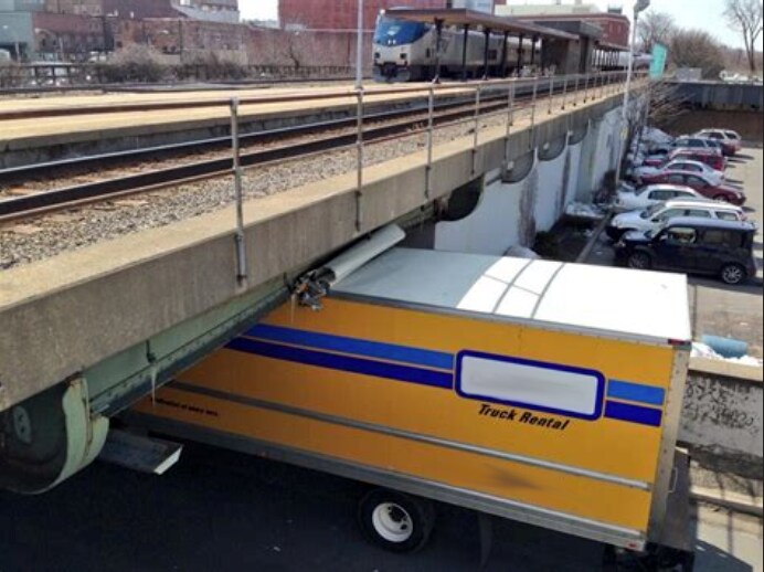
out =
[(448, 371), (454, 370), (454, 356), (443, 351), (425, 350), (421, 348), (411, 348), (408, 346), (259, 324), (250, 329), (245, 336), (279, 343), (293, 343), (295, 346), (307, 346), (320, 350), (413, 363), (415, 366), (424, 366), (425, 368), (437, 368)]

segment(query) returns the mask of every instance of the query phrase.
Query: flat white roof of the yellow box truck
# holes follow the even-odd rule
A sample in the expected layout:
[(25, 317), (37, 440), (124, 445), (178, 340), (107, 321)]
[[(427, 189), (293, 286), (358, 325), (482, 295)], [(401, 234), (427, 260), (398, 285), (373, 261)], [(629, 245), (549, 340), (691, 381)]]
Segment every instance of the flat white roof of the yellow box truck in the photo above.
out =
[(680, 274), (397, 247), (336, 283), (332, 293), (658, 343), (692, 337)]

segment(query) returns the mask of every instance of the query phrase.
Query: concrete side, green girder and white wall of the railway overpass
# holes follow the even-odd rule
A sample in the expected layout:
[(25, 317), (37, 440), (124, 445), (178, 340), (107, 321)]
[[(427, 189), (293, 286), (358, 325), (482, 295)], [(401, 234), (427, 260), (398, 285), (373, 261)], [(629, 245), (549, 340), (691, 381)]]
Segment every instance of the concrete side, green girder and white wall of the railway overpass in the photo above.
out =
[[(87, 465), (109, 416), (244, 330), (288, 296), (290, 278), (392, 221), (412, 225), (477, 192), (459, 220), (427, 226), (435, 248), (530, 245), (616, 159), (620, 92), (534, 121), (244, 205), (237, 279), (233, 208), (0, 274), (0, 485), (40, 491)], [(429, 177), (429, 192), (427, 188)], [(360, 226), (357, 215), (361, 212)], [(464, 213), (461, 213), (464, 214)], [(44, 427), (44, 431), (40, 431)]]

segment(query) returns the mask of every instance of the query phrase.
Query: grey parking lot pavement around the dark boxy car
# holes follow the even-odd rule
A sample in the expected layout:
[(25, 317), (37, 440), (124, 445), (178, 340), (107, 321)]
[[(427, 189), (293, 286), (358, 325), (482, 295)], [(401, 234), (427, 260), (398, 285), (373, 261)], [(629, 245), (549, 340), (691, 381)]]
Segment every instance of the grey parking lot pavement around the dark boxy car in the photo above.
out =
[[(749, 343), (749, 353), (761, 358), (762, 350), (762, 168), (761, 148), (746, 147), (730, 160), (728, 180), (742, 186), (747, 194), (745, 210), (758, 224), (755, 257), (758, 275), (742, 286), (726, 286), (714, 278), (690, 276), (690, 308), (692, 331), (700, 340), (703, 335), (730, 337)], [(614, 252), (603, 233), (592, 250), (588, 264), (612, 265)]]

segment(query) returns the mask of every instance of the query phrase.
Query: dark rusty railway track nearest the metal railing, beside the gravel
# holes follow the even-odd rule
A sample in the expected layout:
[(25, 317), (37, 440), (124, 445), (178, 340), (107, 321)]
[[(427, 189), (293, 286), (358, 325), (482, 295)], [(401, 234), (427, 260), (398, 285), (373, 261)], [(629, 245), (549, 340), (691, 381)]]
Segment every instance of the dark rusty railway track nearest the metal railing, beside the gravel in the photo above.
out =
[[(583, 89), (583, 86), (581, 86)], [(562, 86), (559, 88), (562, 92)], [(549, 92), (544, 94), (549, 96)], [(558, 89), (555, 89), (558, 95)], [(516, 109), (529, 106), (531, 95), (517, 98)], [(541, 99), (541, 97), (539, 97)], [(480, 114), (482, 117), (496, 115), (500, 109), (507, 108), (506, 91), (498, 95), (486, 95), (481, 99)], [(461, 123), (465, 118), (474, 117), (474, 99), (448, 102), (436, 108), (434, 124), (437, 127)], [(364, 118), (364, 124), (374, 124), (364, 127), (364, 142), (381, 142), (402, 135), (416, 135), (426, 129), (426, 110), (422, 108), (385, 112), (370, 115)], [(262, 144), (264, 141), (287, 140), (275, 147), (243, 152), (241, 165), (253, 167), (291, 160), (299, 157), (308, 157), (329, 150), (342, 150), (357, 144), (357, 118), (350, 117), (320, 124), (309, 124), (291, 128), (261, 131), (241, 136), (243, 147)], [(289, 138), (311, 135), (317, 131), (326, 133), (329, 129), (344, 130), (330, 136), (311, 138), (305, 141), (288, 142)], [(39, 176), (40, 172), (50, 174), (56, 170), (76, 168), (79, 170), (94, 170), (108, 161), (131, 160), (140, 161), (147, 157), (156, 158), (158, 153), (181, 153), (200, 150), (223, 149), (231, 145), (230, 137), (191, 141), (181, 145), (138, 149), (119, 153), (108, 153), (96, 157), (85, 157), (44, 163), (29, 167), (20, 167), (0, 171), (0, 178), (21, 178)], [(223, 151), (221, 150), (221, 153)], [(82, 184), (59, 188), (55, 190), (35, 192), (22, 197), (0, 200), (0, 222), (9, 222), (20, 219), (38, 216), (54, 211), (81, 206), (88, 203), (117, 199), (128, 194), (148, 192), (170, 186), (188, 183), (212, 177), (220, 177), (232, 172), (233, 159), (230, 155), (195, 162), (172, 165), (149, 172), (137, 172), (123, 177), (104, 179)]]

